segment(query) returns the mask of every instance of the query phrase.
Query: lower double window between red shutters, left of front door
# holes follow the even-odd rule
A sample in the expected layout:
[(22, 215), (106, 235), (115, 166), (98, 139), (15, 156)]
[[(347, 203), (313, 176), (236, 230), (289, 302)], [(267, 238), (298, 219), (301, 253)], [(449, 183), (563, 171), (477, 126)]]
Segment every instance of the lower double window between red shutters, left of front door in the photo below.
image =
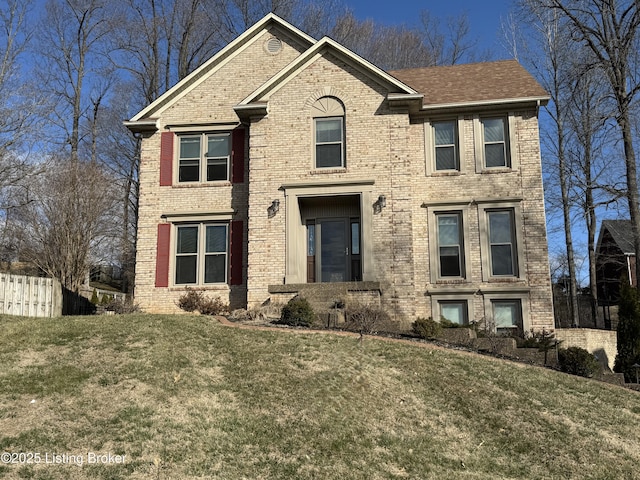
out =
[(176, 285), (226, 283), (228, 225), (176, 227)]

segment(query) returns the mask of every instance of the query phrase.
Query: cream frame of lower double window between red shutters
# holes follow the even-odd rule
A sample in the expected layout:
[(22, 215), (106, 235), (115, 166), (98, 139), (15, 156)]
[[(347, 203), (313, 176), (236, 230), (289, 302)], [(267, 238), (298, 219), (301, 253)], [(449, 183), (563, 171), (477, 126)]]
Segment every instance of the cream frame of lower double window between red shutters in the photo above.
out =
[[(226, 253), (225, 253), (225, 279), (223, 282), (204, 282), (204, 264), (206, 254), (203, 251), (204, 245), (206, 242), (206, 226), (208, 225), (221, 225), (226, 227), (227, 239), (226, 239)], [(176, 258), (178, 256), (178, 228), (179, 227), (198, 227), (198, 250), (197, 250), (197, 258), (196, 258), (196, 283), (177, 283), (176, 282)], [(221, 218), (217, 217), (215, 220), (212, 219), (203, 219), (200, 221), (185, 221), (185, 222), (176, 222), (171, 224), (171, 245), (170, 252), (171, 256), (169, 259), (169, 275), (170, 275), (170, 285), (172, 287), (216, 287), (216, 286), (226, 286), (229, 284), (229, 260), (230, 260), (230, 235), (231, 235), (231, 223), (229, 221), (224, 221)]]

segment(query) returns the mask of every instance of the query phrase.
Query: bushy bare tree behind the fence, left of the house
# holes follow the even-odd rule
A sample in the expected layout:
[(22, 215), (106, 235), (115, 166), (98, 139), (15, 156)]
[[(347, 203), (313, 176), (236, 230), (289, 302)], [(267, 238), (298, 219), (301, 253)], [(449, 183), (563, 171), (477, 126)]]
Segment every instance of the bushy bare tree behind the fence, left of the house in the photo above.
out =
[(78, 292), (112, 237), (111, 182), (95, 162), (55, 159), (48, 167), (9, 228), (24, 259)]

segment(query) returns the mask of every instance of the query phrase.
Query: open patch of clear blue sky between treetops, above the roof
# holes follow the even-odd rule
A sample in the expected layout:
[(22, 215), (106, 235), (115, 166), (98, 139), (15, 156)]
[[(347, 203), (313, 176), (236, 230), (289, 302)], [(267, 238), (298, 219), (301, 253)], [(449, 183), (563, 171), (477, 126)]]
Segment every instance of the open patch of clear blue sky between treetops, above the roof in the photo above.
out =
[(506, 56), (498, 41), (498, 32), (500, 19), (509, 14), (512, 0), (344, 0), (344, 3), (357, 18), (372, 18), (386, 25), (418, 25), (422, 10), (443, 19), (466, 12), (471, 27), (470, 37), (479, 41), (481, 50), (490, 48), (495, 52), (495, 58)]

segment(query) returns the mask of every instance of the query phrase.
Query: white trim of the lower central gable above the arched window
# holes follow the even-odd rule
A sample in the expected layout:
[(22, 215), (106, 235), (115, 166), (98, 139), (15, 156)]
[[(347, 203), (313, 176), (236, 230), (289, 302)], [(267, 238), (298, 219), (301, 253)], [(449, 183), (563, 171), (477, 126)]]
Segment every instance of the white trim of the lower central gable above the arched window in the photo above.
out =
[(421, 95), (413, 88), (405, 85), (384, 70), (376, 67), (374, 64), (353, 53), (351, 50), (343, 47), (338, 42), (331, 40), (329, 37), (323, 37), (306, 52), (283, 68), (277, 75), (269, 79), (251, 95), (242, 100), (242, 102), (239, 103), (239, 106), (267, 100), (269, 95), (282, 88), (289, 80), (298, 75), (298, 73), (307, 68), (318, 58), (323, 57), (327, 51), (337, 53), (337, 56), (344, 59), (349, 65), (378, 84), (384, 85), (385, 87), (391, 86), (392, 88), (397, 89), (398, 93)]

